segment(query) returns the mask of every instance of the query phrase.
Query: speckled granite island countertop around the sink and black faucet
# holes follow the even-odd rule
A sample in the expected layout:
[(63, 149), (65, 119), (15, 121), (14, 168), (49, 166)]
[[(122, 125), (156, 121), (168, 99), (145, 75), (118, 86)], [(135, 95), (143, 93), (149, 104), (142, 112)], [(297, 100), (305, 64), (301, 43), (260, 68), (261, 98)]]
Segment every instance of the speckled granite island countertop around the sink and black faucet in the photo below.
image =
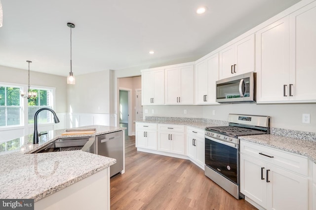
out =
[[(126, 129), (99, 125), (80, 128), (96, 128), (96, 132), (76, 137)], [(40, 136), (39, 144), (32, 143), (33, 135), (21, 137), (16, 139), (20, 141), (16, 149), (0, 151), (1, 199), (34, 199), (36, 202), (116, 163), (116, 159), (81, 150), (31, 154), (57, 138), (74, 137), (61, 136), (64, 132), (64, 129), (48, 131)]]

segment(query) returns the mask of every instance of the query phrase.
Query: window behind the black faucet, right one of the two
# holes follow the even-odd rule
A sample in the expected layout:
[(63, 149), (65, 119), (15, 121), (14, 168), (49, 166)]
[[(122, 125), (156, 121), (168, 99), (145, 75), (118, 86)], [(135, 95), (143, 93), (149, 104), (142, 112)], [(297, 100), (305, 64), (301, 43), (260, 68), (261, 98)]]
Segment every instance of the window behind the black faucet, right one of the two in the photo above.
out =
[[(30, 98), (28, 101), (28, 119), (29, 124), (34, 124), (34, 116), (40, 108), (52, 108), (52, 90), (51, 89), (30, 89), (31, 92), (36, 92), (36, 98)], [(51, 123), (52, 114), (50, 111), (43, 110), (38, 115), (38, 123)]]

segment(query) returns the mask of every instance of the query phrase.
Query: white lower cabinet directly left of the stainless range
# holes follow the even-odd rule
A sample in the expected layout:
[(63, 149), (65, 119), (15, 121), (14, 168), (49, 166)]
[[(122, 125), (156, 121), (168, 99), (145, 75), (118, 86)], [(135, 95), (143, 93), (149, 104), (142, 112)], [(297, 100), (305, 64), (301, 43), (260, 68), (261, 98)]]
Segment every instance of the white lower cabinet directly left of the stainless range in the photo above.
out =
[(198, 167), (204, 170), (205, 164), (205, 138), (204, 130), (188, 127), (188, 157), (191, 158)]

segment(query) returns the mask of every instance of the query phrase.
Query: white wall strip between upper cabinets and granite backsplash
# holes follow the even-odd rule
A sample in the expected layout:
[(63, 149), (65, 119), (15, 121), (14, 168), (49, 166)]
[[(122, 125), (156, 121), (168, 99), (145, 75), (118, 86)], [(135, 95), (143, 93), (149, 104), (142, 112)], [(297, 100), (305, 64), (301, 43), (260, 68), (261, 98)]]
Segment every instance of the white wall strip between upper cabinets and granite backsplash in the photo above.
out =
[[(195, 117), (228, 120), (229, 113), (271, 116), (271, 127), (316, 132), (316, 104), (225, 104), (144, 106), (147, 116)], [(152, 110), (154, 109), (154, 114)], [(184, 113), (187, 110), (187, 114)], [(215, 110), (215, 115), (212, 114)], [(144, 111), (145, 113), (145, 111)], [(302, 123), (302, 114), (311, 114), (311, 123)]]

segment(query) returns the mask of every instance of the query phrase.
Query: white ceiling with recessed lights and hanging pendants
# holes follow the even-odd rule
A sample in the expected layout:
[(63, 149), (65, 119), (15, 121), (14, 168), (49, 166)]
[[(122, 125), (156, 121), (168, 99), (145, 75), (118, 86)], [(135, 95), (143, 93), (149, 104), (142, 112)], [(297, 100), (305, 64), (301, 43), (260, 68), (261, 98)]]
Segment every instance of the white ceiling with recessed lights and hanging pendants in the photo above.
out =
[(298, 1), (1, 0), (0, 66), (67, 76), (67, 22), (75, 75), (195, 61)]

